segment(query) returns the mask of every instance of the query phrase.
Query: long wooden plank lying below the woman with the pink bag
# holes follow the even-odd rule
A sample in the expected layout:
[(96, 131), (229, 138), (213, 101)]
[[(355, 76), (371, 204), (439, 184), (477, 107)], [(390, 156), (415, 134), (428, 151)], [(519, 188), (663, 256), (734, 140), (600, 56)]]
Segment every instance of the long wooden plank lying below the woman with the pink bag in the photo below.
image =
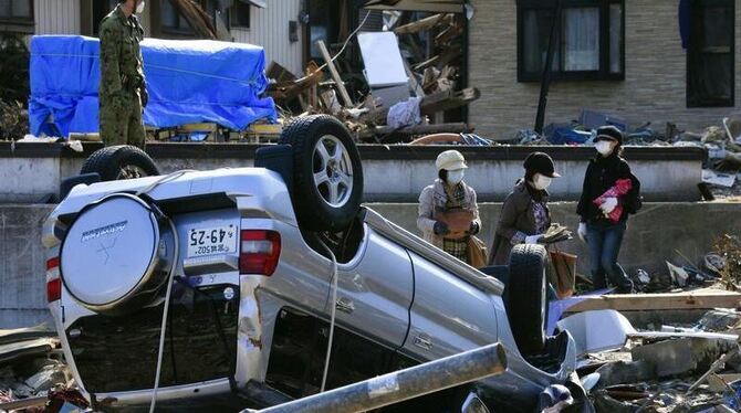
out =
[(738, 308), (741, 294), (720, 289), (698, 289), (666, 294), (615, 294), (584, 297), (584, 300), (570, 307), (565, 313), (582, 313), (599, 309), (618, 311), (680, 310)]

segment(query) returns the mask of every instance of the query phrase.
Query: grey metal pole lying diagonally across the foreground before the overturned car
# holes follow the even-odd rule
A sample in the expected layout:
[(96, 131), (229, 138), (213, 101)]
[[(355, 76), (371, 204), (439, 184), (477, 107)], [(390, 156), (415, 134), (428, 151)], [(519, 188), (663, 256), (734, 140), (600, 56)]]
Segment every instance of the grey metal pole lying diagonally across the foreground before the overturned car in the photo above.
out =
[[(259, 413), (368, 411), (501, 374), (504, 370), (507, 370), (504, 347), (493, 343), (268, 407)], [(247, 412), (257, 411), (242, 411), (242, 413)]]

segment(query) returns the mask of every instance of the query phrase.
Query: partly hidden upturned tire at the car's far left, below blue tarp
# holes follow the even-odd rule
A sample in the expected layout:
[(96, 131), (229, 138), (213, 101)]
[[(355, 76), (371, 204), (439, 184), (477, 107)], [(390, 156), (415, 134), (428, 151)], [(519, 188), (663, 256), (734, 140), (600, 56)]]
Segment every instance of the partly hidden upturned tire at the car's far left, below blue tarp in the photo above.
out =
[(129, 145), (109, 146), (94, 151), (82, 165), (80, 174), (97, 173), (102, 181), (158, 176), (155, 161), (142, 149)]

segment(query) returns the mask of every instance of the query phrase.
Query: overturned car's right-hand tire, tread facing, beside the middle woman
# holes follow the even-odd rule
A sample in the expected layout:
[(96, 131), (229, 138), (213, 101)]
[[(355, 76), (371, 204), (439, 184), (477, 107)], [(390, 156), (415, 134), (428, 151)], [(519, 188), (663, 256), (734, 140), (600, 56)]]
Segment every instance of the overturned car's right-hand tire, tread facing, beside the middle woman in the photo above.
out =
[(545, 247), (530, 244), (515, 245), (510, 255), (507, 315), (523, 356), (545, 347), (546, 256)]

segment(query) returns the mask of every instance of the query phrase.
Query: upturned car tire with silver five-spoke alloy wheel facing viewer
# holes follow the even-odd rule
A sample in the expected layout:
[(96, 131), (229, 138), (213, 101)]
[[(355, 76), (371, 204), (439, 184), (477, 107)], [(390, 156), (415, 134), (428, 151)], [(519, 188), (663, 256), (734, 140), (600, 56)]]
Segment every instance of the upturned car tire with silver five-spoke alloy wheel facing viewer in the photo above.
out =
[(357, 215), (363, 199), (361, 155), (349, 131), (328, 115), (298, 117), (280, 144), (293, 148), (293, 206), (301, 226), (338, 232)]

